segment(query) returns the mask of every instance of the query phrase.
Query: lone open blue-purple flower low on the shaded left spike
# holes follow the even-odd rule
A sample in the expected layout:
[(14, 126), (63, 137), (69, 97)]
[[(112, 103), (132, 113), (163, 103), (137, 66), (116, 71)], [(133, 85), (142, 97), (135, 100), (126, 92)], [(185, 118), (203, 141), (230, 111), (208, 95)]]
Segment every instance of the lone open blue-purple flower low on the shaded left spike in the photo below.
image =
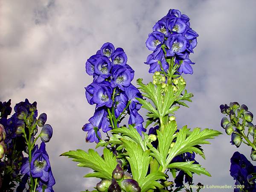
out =
[(47, 182), (49, 180), (50, 161), (45, 150), (45, 143), (42, 142), (38, 151), (35, 151), (30, 163), (32, 177), (40, 177), (41, 180)]

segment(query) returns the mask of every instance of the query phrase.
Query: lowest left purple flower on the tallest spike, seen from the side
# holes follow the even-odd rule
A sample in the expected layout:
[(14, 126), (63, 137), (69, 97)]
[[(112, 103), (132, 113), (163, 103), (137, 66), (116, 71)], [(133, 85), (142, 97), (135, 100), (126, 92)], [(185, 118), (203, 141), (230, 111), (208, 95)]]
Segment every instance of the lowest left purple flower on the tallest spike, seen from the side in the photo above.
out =
[(147, 61), (145, 64), (149, 64), (150, 68), (148, 70), (149, 73), (154, 73), (156, 71), (161, 71), (161, 66), (158, 62), (161, 62), (163, 70), (167, 70), (169, 68), (168, 63), (166, 62), (163, 49), (160, 45), (158, 45), (157, 49), (147, 57)]

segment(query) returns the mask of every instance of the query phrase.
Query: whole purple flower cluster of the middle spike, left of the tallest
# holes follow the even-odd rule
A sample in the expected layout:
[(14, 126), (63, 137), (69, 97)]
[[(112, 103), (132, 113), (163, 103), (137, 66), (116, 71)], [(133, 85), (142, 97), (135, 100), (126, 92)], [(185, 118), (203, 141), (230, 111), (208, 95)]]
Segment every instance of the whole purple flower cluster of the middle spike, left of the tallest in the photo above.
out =
[(128, 113), (128, 123), (134, 124), (141, 134), (145, 131), (142, 116), (138, 113), (142, 98), (140, 91), (131, 84), (134, 70), (127, 64), (127, 55), (122, 48), (105, 43), (101, 49), (87, 59), (86, 72), (93, 76), (93, 82), (85, 87), (85, 95), (90, 105), (96, 104), (94, 115), (83, 126), (87, 131), (86, 141), (98, 143), (102, 129), (107, 133), (119, 126), (119, 122)]

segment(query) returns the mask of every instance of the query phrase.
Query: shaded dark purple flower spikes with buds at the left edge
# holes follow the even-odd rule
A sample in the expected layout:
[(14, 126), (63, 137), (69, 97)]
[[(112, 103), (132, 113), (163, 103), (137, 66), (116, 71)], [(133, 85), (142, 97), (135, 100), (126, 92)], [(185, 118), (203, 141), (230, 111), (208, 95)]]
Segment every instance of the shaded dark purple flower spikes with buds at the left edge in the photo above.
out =
[[(0, 102), (0, 122), (6, 132), (6, 154), (1, 166), (5, 168), (4, 170), (8, 170), (6, 172), (0, 170), (1, 176), (4, 178), (3, 190), (15, 186), (13, 181), (20, 180), (23, 175), (17, 192), (25, 189), (29, 178), (30, 188), (36, 187), (40, 191), (40, 187), (46, 186), (44, 187), (46, 191), (53, 192), (52, 185), (55, 184), (55, 181), (49, 166), (49, 157), (45, 151), (45, 143), (49, 142), (52, 137), (51, 125), (45, 124), (47, 114), (42, 113), (38, 116), (37, 102), (31, 104), (28, 99), (25, 99), (24, 102), (15, 105), (15, 113), (8, 118), (12, 111), (10, 105), (11, 100)], [(38, 127), (41, 128), (40, 134), (38, 134)], [(38, 149), (35, 142), (39, 137), (42, 143)], [(23, 151), (28, 154), (28, 157), (23, 156)]]

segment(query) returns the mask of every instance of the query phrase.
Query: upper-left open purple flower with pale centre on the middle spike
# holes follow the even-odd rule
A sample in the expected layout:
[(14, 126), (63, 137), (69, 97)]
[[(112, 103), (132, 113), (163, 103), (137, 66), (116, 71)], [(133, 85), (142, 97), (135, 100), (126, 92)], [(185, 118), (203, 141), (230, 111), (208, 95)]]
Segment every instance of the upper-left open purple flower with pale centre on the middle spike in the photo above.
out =
[(94, 65), (96, 75), (94, 76), (93, 81), (96, 81), (97, 83), (105, 81), (105, 79), (110, 76), (110, 70), (111, 62), (109, 59), (105, 56), (98, 58)]

